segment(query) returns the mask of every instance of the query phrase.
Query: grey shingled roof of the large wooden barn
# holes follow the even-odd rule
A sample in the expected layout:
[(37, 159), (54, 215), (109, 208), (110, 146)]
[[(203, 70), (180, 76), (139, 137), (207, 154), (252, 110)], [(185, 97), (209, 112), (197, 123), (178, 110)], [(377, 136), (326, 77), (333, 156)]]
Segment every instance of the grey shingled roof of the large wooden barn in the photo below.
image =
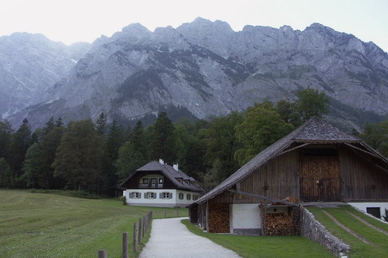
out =
[[(209, 193), (200, 197), (194, 203), (202, 203), (220, 193), (226, 189), (232, 187), (236, 182), (240, 182), (257, 168), (263, 166), (265, 163), (274, 158), (277, 154), (288, 148), (292, 143), (297, 142), (359, 142), (361, 145), (367, 147), (360, 138), (357, 138), (338, 127), (323, 121), (317, 117), (313, 117), (306, 121), (303, 125), (299, 126), (295, 131), (289, 135), (277, 140), (274, 144), (264, 149), (257, 154), (253, 159), (248, 161), (235, 173), (230, 175), (225, 181), (221, 182), (218, 186), (213, 188)], [(369, 147), (370, 148), (370, 147)], [(388, 162), (387, 158), (380, 153), (372, 149), (374, 153), (377, 153), (383, 160)]]

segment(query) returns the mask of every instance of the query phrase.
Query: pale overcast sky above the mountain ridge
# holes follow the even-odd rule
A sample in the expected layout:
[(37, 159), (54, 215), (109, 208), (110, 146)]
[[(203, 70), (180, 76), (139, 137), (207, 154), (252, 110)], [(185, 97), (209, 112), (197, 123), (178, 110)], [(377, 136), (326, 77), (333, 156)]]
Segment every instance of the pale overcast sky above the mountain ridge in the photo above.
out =
[(139, 22), (153, 31), (196, 17), (244, 25), (304, 30), (313, 22), (373, 41), (388, 51), (388, 0), (1, 0), (0, 35), (42, 33), (69, 45), (111, 36)]

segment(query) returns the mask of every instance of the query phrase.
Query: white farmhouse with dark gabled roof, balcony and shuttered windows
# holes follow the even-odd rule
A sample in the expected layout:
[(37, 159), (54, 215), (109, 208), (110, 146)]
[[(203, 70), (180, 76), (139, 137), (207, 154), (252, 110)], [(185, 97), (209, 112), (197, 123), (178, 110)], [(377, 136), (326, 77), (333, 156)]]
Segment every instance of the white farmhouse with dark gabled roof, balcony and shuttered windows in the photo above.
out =
[(178, 168), (162, 159), (138, 168), (119, 185), (128, 205), (185, 207), (200, 196), (202, 187)]

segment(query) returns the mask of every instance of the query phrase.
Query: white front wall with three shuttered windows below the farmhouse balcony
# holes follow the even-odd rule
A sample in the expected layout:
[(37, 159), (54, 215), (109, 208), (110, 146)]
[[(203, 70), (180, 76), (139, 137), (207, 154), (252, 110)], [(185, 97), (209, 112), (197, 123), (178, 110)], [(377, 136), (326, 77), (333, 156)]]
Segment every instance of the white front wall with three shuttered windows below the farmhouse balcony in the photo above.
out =
[[(141, 204), (166, 204), (166, 207), (175, 206), (176, 204), (176, 196), (177, 196), (177, 190), (176, 189), (127, 189), (125, 192), (125, 197), (127, 197), (127, 203), (136, 205), (137, 203)], [(123, 192), (123, 193), (124, 193)], [(140, 193), (140, 198), (129, 198), (129, 193), (132, 192), (138, 192)], [(144, 198), (144, 193), (156, 193), (156, 198)], [(171, 199), (161, 199), (159, 198), (159, 193), (173, 193), (173, 197)], [(174, 205), (173, 205), (174, 204)], [(162, 207), (162, 206), (161, 206)]]

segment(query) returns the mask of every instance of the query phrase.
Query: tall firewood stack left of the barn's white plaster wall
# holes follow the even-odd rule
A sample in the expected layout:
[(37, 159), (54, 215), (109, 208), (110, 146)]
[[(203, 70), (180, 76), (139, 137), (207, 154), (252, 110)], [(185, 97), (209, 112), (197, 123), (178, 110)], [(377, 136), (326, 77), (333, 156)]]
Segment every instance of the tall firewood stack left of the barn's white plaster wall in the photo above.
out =
[(209, 232), (229, 233), (229, 204), (209, 203)]

